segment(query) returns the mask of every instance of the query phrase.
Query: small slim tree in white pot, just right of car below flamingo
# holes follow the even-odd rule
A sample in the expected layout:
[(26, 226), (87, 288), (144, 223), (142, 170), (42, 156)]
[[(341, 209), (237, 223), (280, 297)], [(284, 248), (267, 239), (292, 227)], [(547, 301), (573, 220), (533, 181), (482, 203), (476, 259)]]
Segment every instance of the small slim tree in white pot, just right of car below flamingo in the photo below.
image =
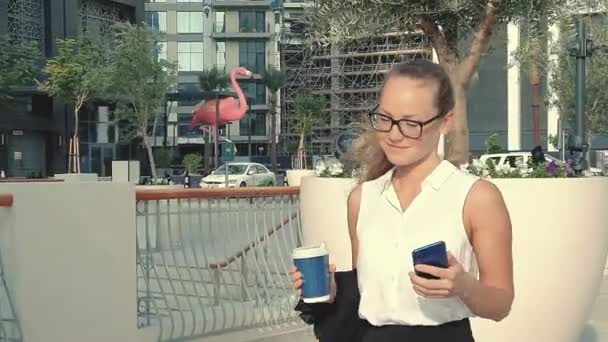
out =
[(327, 101), (322, 96), (304, 94), (296, 98), (294, 103), (295, 115), (293, 120), (300, 137), (292, 169), (287, 170), (287, 183), (290, 186), (300, 186), (303, 177), (313, 176), (314, 170), (309, 168), (306, 159), (306, 137), (312, 133), (312, 128), (320, 122), (320, 116)]

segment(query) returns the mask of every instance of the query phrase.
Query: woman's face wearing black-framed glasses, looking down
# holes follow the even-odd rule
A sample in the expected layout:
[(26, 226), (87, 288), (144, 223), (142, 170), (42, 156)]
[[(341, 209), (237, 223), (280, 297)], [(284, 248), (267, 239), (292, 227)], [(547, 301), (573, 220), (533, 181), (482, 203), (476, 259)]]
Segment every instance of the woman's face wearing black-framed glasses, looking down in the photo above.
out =
[[(438, 117), (437, 87), (433, 81), (400, 76), (391, 77), (384, 85), (372, 124), (380, 147), (393, 165), (414, 165), (437, 153), (439, 137), (452, 117), (452, 113)], [(401, 121), (397, 124), (391, 120)]]

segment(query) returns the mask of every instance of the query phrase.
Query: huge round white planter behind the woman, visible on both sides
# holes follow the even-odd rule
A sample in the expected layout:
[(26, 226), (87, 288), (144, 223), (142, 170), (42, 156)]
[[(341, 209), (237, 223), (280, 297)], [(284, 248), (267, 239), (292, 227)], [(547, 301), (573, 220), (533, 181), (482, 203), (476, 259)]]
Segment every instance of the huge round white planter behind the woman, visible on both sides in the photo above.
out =
[[(495, 179), (513, 224), (515, 301), (496, 323), (474, 318), (477, 342), (577, 341), (608, 252), (608, 178)], [(303, 243), (325, 242), (338, 270), (351, 268), (346, 198), (353, 180), (305, 178)]]

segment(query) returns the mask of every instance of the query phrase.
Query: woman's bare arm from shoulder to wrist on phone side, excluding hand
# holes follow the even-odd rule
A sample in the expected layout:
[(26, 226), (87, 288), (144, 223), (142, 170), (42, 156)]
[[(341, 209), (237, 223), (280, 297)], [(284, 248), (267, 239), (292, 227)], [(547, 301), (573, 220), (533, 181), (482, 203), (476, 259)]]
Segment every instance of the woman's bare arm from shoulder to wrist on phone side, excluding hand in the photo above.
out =
[(475, 183), (465, 202), (464, 223), (470, 228), (479, 280), (469, 276), (460, 296), (477, 316), (500, 321), (511, 311), (515, 290), (511, 219), (494, 184)]

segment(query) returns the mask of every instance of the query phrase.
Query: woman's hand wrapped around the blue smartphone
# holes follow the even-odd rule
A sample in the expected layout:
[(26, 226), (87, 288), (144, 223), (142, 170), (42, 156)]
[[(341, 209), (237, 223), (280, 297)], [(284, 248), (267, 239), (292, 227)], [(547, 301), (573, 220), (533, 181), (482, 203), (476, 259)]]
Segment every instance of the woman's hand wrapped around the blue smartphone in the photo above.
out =
[(475, 279), (465, 272), (462, 265), (450, 252), (448, 252), (448, 265), (448, 268), (416, 265), (416, 271), (433, 275), (439, 279), (426, 279), (416, 275), (415, 272), (410, 272), (414, 291), (426, 298), (466, 297)]

